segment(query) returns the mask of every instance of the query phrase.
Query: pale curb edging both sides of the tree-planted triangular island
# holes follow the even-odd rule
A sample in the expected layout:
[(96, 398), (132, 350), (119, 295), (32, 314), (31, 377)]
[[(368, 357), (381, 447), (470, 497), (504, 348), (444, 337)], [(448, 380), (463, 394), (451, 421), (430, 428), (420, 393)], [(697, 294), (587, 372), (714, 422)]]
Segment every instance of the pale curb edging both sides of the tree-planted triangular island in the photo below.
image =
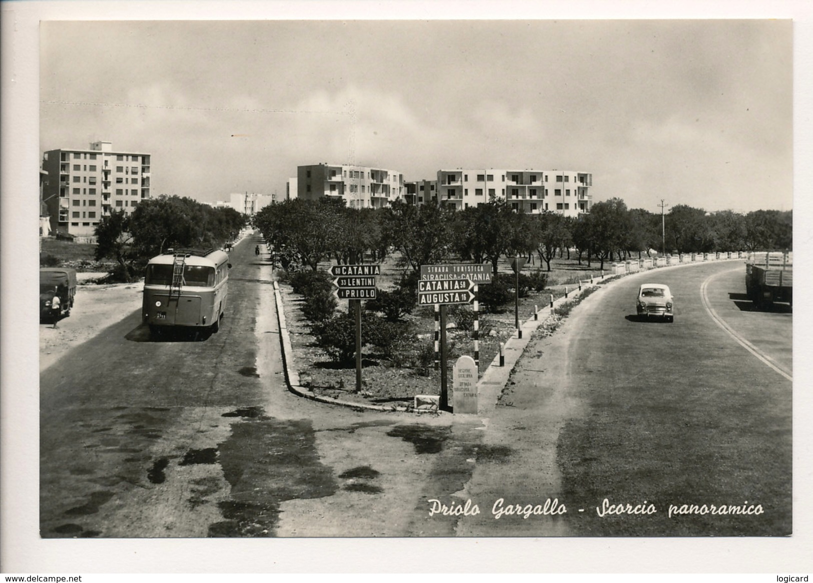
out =
[[(486, 414), (488, 412), (493, 411), (494, 408), (497, 407), (498, 396), (505, 389), (508, 379), (511, 378), (511, 373), (514, 370), (517, 361), (520, 360), (520, 356), (522, 356), (525, 348), (531, 341), (531, 336), (533, 335), (533, 332), (536, 331), (539, 326), (546, 322), (549, 322), (552, 319), (554, 310), (557, 307), (569, 301), (580, 298), (584, 291), (589, 287), (599, 287), (601, 283), (608, 278), (622, 279), (628, 277), (629, 275), (648, 273), (654, 270), (666, 270), (670, 268), (685, 266), (698, 266), (712, 262), (722, 263), (724, 261), (742, 261), (742, 259), (741, 257), (733, 257), (730, 259), (728, 258), (718, 259), (715, 261), (691, 261), (687, 263), (679, 263), (673, 266), (650, 267), (645, 270), (635, 270), (624, 274), (604, 274), (600, 278), (597, 278), (595, 283), (590, 282), (585, 283), (584, 285), (580, 285), (573, 291), (569, 291), (567, 293), (567, 296), (562, 296), (559, 297), (557, 300), (554, 300), (553, 303), (550, 304), (549, 308), (543, 308), (537, 312), (538, 319), (534, 319), (533, 317), (531, 317), (525, 322), (522, 322), (520, 324), (520, 330), (522, 330), (521, 339), (516, 335), (516, 333), (514, 333), (513, 335), (511, 335), (510, 339), (506, 340), (506, 343), (504, 344), (503, 356), (505, 360), (503, 365), (502, 366), (500, 365), (500, 355), (498, 353), (496, 356), (494, 356), (493, 361), (491, 361), (489, 366), (480, 376), (480, 380), (477, 381), (477, 395), (478, 395), (477, 414), (478, 415)], [(611, 282), (607, 283), (612, 283), (617, 279), (613, 279)], [(364, 403), (354, 403), (352, 401), (346, 401), (342, 399), (333, 399), (331, 397), (316, 395), (313, 391), (311, 391), (307, 387), (302, 387), (302, 385), (299, 384), (300, 382), (299, 372), (293, 365), (293, 346), (291, 345), (290, 332), (288, 330), (288, 326), (285, 321), (285, 308), (282, 303), (280, 287), (276, 281), (274, 282), (274, 300), (276, 303), (276, 319), (280, 326), (280, 343), (282, 348), (282, 364), (283, 369), (285, 370), (285, 384), (287, 385), (288, 390), (291, 391), (294, 395), (318, 401), (320, 403), (341, 405), (342, 407), (364, 409), (368, 411), (415, 412), (414, 410), (408, 409), (406, 407), (397, 407), (397, 406), (385, 407), (384, 405), (371, 405)], [(542, 316), (543, 312), (546, 312), (544, 317)], [(425, 415), (426, 412), (415, 412), (415, 414)], [(448, 414), (448, 412), (437, 411), (435, 412), (435, 414), (442, 415)]]

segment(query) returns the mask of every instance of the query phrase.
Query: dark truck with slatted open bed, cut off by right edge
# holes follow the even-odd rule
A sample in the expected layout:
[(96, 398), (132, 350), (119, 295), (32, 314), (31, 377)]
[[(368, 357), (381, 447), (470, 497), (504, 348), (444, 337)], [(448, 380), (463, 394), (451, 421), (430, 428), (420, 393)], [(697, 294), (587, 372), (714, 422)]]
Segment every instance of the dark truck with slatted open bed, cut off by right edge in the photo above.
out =
[(757, 309), (771, 309), (775, 302), (793, 306), (793, 253), (749, 253), (746, 293)]

